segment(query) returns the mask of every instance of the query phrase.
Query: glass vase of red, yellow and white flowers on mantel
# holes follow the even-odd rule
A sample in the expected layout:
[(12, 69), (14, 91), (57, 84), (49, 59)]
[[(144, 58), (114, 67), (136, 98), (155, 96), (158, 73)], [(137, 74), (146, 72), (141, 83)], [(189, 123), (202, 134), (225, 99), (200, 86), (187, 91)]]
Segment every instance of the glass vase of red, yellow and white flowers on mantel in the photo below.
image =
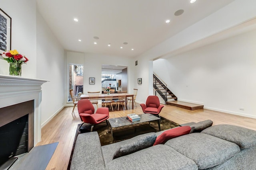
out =
[(2, 57), (10, 64), (9, 74), (11, 76), (21, 76), (21, 66), (23, 63), (27, 63), (28, 58), (19, 54), (17, 50), (6, 51), (2, 54)]

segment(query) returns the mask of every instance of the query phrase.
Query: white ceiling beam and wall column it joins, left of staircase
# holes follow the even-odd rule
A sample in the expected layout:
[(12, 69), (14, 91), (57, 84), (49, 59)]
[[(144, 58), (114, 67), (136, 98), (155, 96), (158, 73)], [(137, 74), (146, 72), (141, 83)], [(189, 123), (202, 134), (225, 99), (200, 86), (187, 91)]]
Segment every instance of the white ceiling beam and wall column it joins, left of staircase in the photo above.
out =
[[(233, 30), (236, 28), (244, 29), (241, 28), (240, 24), (253, 18), (256, 18), (256, 1), (235, 0), (136, 57), (135, 60), (138, 60), (138, 66), (135, 67), (134, 86), (137, 86), (138, 93), (141, 92), (137, 96), (136, 101), (144, 103), (147, 96), (152, 94), (152, 84), (150, 83), (152, 82), (152, 69), (150, 62), (158, 58), (168, 58), (169, 56), (184, 53), (184, 51), (195, 48), (196, 45), (198, 47), (205, 45), (209, 43), (209, 39), (213, 36), (221, 39), (224, 31), (226, 33), (230, 28)], [(204, 43), (202, 43), (203, 40)], [(141, 85), (136, 84), (137, 78), (142, 78)]]

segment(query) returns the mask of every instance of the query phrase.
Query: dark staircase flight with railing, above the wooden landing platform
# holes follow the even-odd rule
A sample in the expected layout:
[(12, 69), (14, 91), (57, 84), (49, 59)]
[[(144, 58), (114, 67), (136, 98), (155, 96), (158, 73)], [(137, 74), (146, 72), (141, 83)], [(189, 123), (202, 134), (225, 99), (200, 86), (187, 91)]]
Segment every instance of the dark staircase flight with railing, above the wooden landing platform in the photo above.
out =
[(177, 97), (167, 88), (167, 84), (153, 73), (154, 95), (158, 96), (161, 104), (178, 100)]

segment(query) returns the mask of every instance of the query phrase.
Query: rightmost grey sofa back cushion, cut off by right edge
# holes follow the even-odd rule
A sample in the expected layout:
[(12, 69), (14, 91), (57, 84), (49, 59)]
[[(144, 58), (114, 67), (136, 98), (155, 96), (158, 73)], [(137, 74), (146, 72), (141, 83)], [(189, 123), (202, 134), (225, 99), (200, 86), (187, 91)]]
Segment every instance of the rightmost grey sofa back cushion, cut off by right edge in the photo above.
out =
[(214, 125), (202, 131), (226, 141), (236, 143), (241, 149), (256, 146), (256, 131), (235, 125)]

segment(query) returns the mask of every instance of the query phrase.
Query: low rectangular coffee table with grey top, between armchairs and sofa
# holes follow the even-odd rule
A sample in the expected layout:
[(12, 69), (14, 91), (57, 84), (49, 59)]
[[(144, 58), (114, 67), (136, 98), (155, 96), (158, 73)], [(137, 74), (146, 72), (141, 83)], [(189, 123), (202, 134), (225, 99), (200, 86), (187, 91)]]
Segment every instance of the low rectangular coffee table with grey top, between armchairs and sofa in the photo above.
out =
[(111, 128), (112, 143), (113, 143), (113, 128), (116, 128), (116, 127), (125, 127), (128, 125), (136, 125), (136, 124), (140, 124), (140, 123), (144, 123), (144, 122), (150, 123), (151, 121), (157, 120), (159, 131), (161, 131), (159, 117), (156, 117), (150, 113), (144, 113), (144, 114), (141, 114), (138, 116), (140, 116), (139, 121), (130, 121), (129, 119), (126, 119), (126, 117), (116, 117), (116, 118), (108, 119), (108, 122), (109, 122), (110, 128)]

